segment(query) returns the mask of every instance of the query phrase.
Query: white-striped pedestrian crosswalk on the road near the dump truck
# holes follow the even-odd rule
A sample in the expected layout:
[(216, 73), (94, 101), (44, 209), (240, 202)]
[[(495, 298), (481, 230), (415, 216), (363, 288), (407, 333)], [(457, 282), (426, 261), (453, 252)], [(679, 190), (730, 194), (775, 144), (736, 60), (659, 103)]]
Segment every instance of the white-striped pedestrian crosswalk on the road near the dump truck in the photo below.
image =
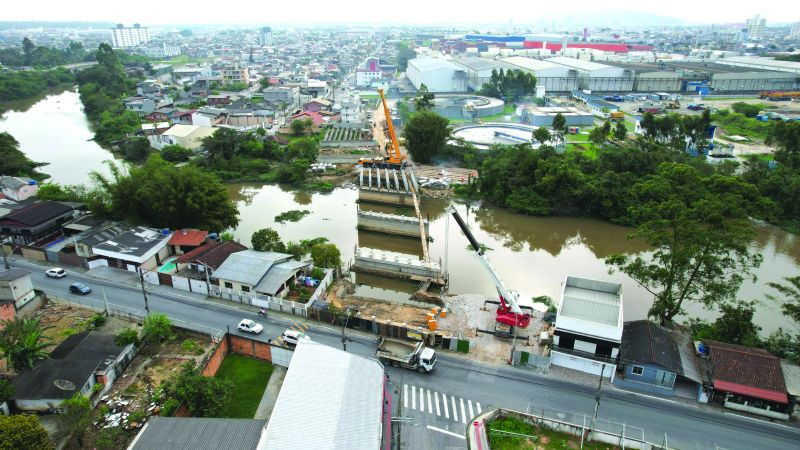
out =
[(466, 424), (482, 412), (477, 401), (403, 384), (403, 408)]

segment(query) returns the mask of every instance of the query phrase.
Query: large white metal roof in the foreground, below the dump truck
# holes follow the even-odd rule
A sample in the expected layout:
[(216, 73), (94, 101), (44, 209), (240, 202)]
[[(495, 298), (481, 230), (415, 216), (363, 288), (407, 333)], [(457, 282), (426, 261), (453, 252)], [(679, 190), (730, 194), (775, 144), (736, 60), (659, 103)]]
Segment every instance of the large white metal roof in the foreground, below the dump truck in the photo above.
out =
[(259, 450), (377, 450), (382, 406), (377, 361), (301, 341)]

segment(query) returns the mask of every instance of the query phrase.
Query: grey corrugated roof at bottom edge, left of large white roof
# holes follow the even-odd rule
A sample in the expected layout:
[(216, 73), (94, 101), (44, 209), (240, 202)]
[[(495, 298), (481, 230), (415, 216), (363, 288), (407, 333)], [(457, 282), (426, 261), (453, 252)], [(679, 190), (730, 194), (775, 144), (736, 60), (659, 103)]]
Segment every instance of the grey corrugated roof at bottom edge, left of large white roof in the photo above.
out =
[(266, 423), (263, 419), (153, 416), (128, 449), (255, 449)]

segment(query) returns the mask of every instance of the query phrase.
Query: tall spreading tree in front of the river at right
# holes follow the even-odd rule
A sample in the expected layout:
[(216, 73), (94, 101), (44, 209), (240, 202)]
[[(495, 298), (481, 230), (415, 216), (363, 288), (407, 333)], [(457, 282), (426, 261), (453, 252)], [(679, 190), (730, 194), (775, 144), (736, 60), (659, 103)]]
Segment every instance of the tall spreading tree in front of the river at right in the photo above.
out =
[(651, 257), (613, 255), (606, 263), (630, 276), (654, 297), (649, 316), (662, 324), (684, 312), (687, 302), (707, 308), (732, 301), (761, 256), (748, 244), (751, 217), (763, 217), (768, 200), (741, 179), (676, 163), (631, 191), (633, 237), (655, 250)]

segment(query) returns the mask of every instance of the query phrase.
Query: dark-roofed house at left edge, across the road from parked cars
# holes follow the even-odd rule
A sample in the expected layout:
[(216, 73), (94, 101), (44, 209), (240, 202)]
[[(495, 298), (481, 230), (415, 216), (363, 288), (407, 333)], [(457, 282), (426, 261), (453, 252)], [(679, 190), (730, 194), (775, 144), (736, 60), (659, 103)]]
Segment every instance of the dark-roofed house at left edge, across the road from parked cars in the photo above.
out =
[(43, 201), (15, 209), (0, 219), (0, 234), (18, 244), (35, 245), (61, 234), (61, 225), (73, 219), (80, 204)]

